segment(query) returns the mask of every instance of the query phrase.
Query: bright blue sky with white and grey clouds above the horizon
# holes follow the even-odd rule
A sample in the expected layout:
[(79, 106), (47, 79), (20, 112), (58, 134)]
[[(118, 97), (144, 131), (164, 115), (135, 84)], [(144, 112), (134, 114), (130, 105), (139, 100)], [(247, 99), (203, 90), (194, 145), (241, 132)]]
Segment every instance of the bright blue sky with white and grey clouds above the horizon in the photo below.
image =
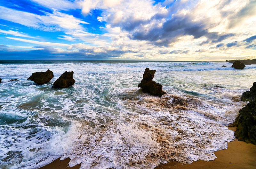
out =
[(0, 0), (0, 60), (255, 58), (253, 0)]

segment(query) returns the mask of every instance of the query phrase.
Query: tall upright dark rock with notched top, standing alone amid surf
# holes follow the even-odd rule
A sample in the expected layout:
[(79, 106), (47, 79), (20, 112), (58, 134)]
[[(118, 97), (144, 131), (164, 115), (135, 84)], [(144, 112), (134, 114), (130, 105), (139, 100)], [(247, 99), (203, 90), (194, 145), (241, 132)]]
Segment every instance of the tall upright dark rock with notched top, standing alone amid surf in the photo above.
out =
[(138, 85), (138, 88), (142, 88), (144, 93), (150, 93), (151, 95), (162, 96), (166, 94), (162, 90), (162, 85), (153, 81), (156, 70), (149, 70), (146, 68), (143, 74), (143, 79)]

